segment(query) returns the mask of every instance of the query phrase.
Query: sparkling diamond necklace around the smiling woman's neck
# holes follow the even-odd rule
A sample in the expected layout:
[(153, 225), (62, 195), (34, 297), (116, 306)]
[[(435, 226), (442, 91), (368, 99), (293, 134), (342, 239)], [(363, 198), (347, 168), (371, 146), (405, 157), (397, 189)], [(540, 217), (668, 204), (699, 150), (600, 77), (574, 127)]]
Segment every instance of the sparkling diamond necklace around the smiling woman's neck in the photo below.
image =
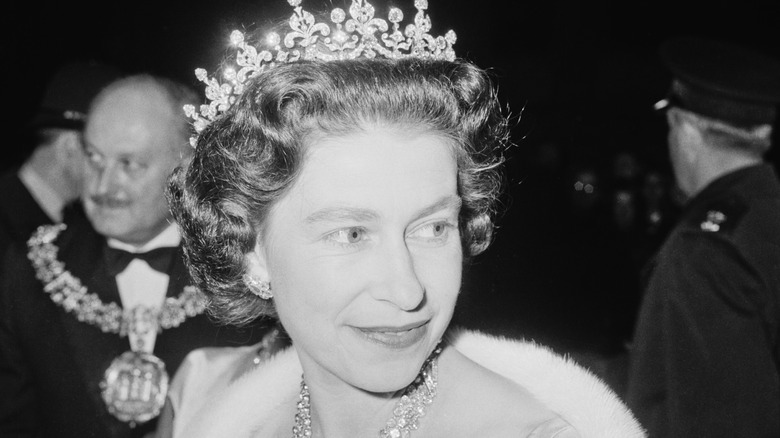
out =
[[(420, 374), (404, 390), (401, 399), (393, 408), (393, 417), (387, 420), (379, 431), (380, 438), (409, 438), (412, 431), (419, 427), (420, 418), (436, 397), (436, 385), (439, 374), (437, 347), (423, 364)], [(306, 380), (301, 378), (301, 392), (298, 396), (298, 410), (295, 413), (293, 438), (311, 438), (311, 400)]]

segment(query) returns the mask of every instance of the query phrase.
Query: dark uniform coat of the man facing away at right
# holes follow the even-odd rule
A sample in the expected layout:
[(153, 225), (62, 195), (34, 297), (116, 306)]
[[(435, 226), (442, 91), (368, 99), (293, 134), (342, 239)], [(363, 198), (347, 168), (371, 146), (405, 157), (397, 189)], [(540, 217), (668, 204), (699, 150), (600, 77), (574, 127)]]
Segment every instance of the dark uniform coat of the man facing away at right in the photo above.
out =
[(780, 436), (780, 184), (769, 165), (708, 185), (654, 260), (629, 406), (651, 437)]

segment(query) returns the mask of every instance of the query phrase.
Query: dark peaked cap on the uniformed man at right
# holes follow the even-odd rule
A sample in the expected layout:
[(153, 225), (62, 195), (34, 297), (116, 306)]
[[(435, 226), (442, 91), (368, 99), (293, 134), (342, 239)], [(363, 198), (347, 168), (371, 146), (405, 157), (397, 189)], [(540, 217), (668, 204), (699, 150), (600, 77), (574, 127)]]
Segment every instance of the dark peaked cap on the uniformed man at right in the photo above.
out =
[(674, 75), (666, 105), (737, 126), (771, 124), (780, 103), (780, 60), (724, 41), (675, 38), (660, 55)]

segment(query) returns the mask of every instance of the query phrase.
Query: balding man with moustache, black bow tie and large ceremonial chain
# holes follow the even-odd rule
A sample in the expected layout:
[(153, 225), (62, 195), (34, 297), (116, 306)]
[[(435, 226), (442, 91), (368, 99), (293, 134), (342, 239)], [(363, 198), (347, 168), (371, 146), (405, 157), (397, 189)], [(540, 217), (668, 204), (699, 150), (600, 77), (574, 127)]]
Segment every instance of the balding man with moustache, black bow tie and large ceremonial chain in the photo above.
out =
[(216, 327), (203, 313), (165, 201), (191, 155), (182, 107), (197, 100), (135, 75), (93, 101), (82, 202), (4, 262), (0, 436), (147, 436), (190, 350), (261, 339), (261, 324)]

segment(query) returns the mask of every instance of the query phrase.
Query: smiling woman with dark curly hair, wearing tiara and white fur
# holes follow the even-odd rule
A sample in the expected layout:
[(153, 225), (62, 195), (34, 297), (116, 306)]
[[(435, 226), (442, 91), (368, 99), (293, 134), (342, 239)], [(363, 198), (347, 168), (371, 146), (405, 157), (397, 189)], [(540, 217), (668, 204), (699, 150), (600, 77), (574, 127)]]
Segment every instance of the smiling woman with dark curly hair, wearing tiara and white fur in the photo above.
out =
[(463, 264), (491, 240), (508, 138), (485, 72), (454, 59), (454, 34), (428, 38), (425, 2), (409, 47), (389, 33), (386, 52), (366, 35), (390, 25), (367, 3), (352, 25), (334, 11), (332, 32), (290, 3), (303, 40), (265, 57), (236, 38), (251, 58), (228, 75), (236, 99), (207, 80), (217, 104), (169, 195), (211, 311), (278, 315), (293, 347), (254, 369), (254, 350), (194, 352), (171, 391), (174, 435), (642, 436), (576, 365), (448, 331)]

